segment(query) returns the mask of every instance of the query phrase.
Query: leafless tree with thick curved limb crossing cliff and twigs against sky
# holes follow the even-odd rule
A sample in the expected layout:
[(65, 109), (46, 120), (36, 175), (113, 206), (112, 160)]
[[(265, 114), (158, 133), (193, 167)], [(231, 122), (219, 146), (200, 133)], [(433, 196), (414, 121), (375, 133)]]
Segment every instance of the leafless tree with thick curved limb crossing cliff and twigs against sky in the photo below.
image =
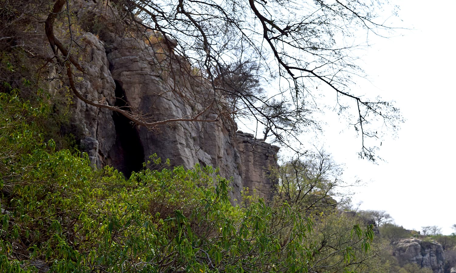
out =
[[(105, 9), (118, 10), (119, 21), (129, 31), (160, 34), (161, 43), (172, 46), (172, 56), (185, 60), (182, 67), (197, 69), (231, 103), (228, 110), (214, 96), (208, 108), (171, 121), (150, 121), (139, 113), (88, 100), (74, 85), (74, 69), (81, 73), (84, 69), (73, 56), (72, 47), (77, 44), (71, 30), (68, 44), (54, 33), (56, 18), (69, 14), (70, 1), (32, 2), (41, 13), (47, 12), (45, 34), (55, 58), (65, 67), (75, 96), (117, 111), (141, 126), (207, 121), (203, 113), (211, 109), (219, 116), (249, 117), (263, 130), (264, 138), (274, 136), (275, 141), (297, 151), (290, 139), (299, 139), (308, 126), (318, 128), (319, 121), (312, 113), (324, 105), (317, 98), (333, 94), (335, 109), (347, 114), (347, 123), (361, 136), (360, 157), (375, 160), (385, 130), (394, 133), (402, 122), (393, 102), (350, 89), (356, 76), (363, 74), (355, 50), (368, 45), (368, 39), (357, 39), (360, 31), (368, 37), (388, 35), (392, 30), (389, 21), (382, 18), (394, 15), (394, 7), (385, 11), (388, 14), (379, 14), (390, 7), (387, 0), (94, 1)], [(356, 114), (350, 116), (348, 109)]]

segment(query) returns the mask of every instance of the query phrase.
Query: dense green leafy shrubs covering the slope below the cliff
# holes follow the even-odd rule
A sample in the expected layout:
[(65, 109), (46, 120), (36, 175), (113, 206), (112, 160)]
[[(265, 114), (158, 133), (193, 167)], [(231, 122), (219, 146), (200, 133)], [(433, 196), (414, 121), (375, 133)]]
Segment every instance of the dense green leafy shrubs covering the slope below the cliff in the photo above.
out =
[[(0, 93), (1, 272), (327, 271), (296, 207), (233, 207), (228, 181), (210, 167), (146, 169), (128, 180), (93, 170), (86, 154), (44, 140), (36, 121), (50, 110), (35, 104)], [(346, 272), (356, 244), (367, 251), (373, 234), (352, 227), (352, 243), (337, 251)]]

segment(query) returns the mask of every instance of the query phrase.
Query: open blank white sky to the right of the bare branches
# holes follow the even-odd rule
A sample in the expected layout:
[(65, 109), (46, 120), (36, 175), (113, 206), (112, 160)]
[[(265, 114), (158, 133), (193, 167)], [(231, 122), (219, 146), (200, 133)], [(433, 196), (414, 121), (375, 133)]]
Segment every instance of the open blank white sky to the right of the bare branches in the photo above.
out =
[[(336, 123), (326, 128), (325, 147), (346, 164), (345, 180), (356, 175), (366, 183), (353, 189), (360, 209), (385, 210), (407, 229), (442, 227), (453, 232), (456, 198), (455, 1), (431, 5), (412, 0), (396, 3), (403, 36), (375, 40), (363, 57), (363, 68), (386, 100), (395, 100), (407, 121), (399, 137), (384, 141), (379, 165), (357, 159), (359, 142)], [(336, 127), (336, 128), (335, 128)]]

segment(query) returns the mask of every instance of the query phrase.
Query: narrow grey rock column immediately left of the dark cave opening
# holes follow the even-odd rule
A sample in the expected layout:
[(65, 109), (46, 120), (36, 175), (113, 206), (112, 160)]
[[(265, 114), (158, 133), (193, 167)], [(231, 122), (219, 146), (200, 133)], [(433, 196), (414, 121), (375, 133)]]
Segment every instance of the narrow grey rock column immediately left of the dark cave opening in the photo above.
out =
[[(76, 83), (78, 90), (89, 100), (103, 99), (114, 105), (115, 84), (104, 44), (92, 33), (82, 34), (80, 42), (87, 50), (79, 56), (85, 74)], [(112, 111), (88, 105), (78, 98), (73, 99), (72, 111), (71, 122), (77, 128), (73, 131), (80, 137), (81, 149), (88, 153), (94, 165), (103, 166), (116, 139)]]

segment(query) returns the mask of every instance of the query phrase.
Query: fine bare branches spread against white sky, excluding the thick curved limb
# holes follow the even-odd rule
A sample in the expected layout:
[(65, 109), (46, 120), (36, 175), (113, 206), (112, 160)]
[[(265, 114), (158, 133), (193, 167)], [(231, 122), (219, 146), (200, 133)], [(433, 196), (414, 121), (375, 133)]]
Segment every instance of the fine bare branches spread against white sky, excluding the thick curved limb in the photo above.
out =
[[(237, 97), (235, 101), (246, 109), (236, 110), (244, 116), (252, 116), (266, 128), (266, 136), (274, 135), (282, 144), (287, 144), (287, 136), (297, 137), (304, 126), (315, 124), (309, 122), (312, 121), (311, 111), (320, 107), (314, 98), (331, 90), (337, 98), (339, 111), (346, 111), (348, 107), (357, 111), (349, 123), (362, 139), (360, 157), (375, 160), (374, 152), (382, 136), (378, 126), (396, 131), (402, 121), (399, 109), (392, 102), (375, 96), (369, 99), (369, 96), (350, 91), (355, 81), (353, 76), (362, 73), (356, 65), (354, 50), (363, 44), (352, 37), (359, 35), (360, 30), (364, 30), (366, 36), (388, 35), (392, 28), (380, 18), (393, 15), (394, 8), (386, 17), (380, 17), (376, 12), (380, 7), (387, 10), (387, 1), (116, 2), (126, 12), (139, 13), (143, 22), (179, 41), (180, 53), (201, 67), (216, 89)], [(255, 94), (245, 92), (245, 89), (233, 92), (232, 86), (216, 85), (220, 73), (224, 74), (233, 63), (254, 64), (257, 68), (251, 71), (278, 76), (277, 92), (267, 90)], [(222, 79), (227, 78), (228, 83), (233, 79), (222, 76)], [(271, 103), (274, 97), (285, 104)], [(290, 111), (280, 111), (283, 105), (289, 105)], [(281, 124), (284, 119), (286, 126)], [(368, 139), (378, 142), (371, 145), (372, 142), (367, 143)]]

